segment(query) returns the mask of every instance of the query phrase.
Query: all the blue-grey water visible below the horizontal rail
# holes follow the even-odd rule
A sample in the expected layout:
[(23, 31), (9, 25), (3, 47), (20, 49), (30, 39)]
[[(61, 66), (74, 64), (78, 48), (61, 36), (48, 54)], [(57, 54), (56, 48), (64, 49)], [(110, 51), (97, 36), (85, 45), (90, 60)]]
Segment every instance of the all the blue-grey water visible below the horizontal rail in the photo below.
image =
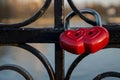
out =
[[(32, 44), (39, 49), (50, 61), (54, 68), (54, 44)], [(39, 60), (29, 52), (16, 47), (1, 47), (0, 65), (17, 64), (25, 68), (35, 80), (49, 80), (47, 71)], [(76, 55), (65, 52), (65, 72), (76, 58)], [(92, 80), (100, 73), (107, 71), (120, 72), (120, 49), (109, 48), (91, 54), (75, 68), (71, 80)], [(7, 75), (7, 77), (6, 77)], [(22, 76), (13, 71), (1, 71), (0, 80), (24, 80)], [(120, 80), (106, 78), (104, 80)]]

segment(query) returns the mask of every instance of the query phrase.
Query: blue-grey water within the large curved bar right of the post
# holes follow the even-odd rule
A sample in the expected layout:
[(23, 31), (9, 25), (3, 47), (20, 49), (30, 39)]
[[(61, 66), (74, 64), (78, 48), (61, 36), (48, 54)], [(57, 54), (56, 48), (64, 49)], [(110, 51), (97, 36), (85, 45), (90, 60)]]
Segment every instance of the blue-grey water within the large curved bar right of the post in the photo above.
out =
[[(71, 80), (92, 80), (96, 75), (103, 72), (120, 72), (120, 65), (118, 64), (120, 60), (119, 52), (119, 49), (104, 49), (96, 54), (89, 55), (76, 67)], [(70, 60), (70, 58), (68, 60)], [(105, 80), (113, 80), (113, 78)], [(114, 78), (114, 80), (119, 79)]]

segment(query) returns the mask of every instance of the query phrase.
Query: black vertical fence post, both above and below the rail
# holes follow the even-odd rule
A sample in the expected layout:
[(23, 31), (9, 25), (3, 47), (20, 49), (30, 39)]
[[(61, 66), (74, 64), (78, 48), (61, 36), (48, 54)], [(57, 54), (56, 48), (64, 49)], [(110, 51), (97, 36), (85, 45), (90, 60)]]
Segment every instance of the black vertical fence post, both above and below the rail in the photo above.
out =
[[(55, 29), (58, 30), (64, 29), (63, 2), (64, 0), (54, 0)], [(58, 42), (55, 43), (55, 80), (64, 80), (64, 53)]]

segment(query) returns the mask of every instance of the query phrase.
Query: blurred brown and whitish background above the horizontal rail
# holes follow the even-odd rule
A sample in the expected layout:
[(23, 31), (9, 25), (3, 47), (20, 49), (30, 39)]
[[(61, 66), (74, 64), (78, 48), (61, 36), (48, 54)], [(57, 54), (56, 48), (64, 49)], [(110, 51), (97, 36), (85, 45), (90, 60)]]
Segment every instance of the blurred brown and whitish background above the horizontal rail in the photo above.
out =
[[(71, 8), (69, 7), (67, 0), (64, 0), (64, 2), (64, 15), (67, 15), (71, 11)], [(43, 3), (44, 0), (0, 0), (0, 21), (1, 23), (15, 23), (23, 21), (34, 15), (35, 12), (42, 7)], [(54, 24), (53, 3), (54, 1), (47, 12), (39, 20), (29, 26), (50, 26)], [(104, 23), (120, 23), (119, 0), (74, 0), (74, 3), (79, 9), (87, 7), (98, 11)], [(77, 20), (77, 18), (74, 20)], [(47, 23), (44, 23), (44, 21)]]

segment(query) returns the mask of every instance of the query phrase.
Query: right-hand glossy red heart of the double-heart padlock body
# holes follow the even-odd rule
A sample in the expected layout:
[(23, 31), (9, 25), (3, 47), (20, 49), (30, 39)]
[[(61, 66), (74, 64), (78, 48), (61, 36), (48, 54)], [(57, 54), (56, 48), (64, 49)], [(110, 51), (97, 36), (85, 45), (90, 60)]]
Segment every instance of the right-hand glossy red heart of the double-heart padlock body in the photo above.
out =
[(95, 26), (88, 29), (84, 37), (85, 50), (89, 53), (97, 52), (109, 42), (109, 33), (104, 27)]

